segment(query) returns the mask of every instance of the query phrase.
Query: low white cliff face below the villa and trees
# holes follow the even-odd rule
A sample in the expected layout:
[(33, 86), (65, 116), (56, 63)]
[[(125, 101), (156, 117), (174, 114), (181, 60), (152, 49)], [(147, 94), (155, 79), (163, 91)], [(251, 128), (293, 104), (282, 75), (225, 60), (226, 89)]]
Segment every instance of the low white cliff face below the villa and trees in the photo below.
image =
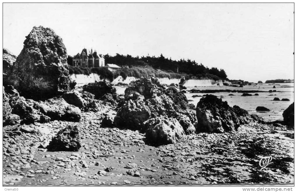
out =
[[(88, 83), (93, 83), (95, 81), (103, 81), (106, 80), (107, 82), (110, 82), (107, 79), (101, 79), (100, 75), (91, 73), (90, 75), (84, 75), (84, 74), (72, 74), (70, 76), (72, 80), (75, 80), (76, 87), (81, 87), (83, 85), (86, 85)], [(118, 83), (123, 84), (129, 84), (132, 81), (135, 81), (135, 77), (127, 77), (125, 80), (122, 76), (116, 77), (112, 82), (110, 82), (112, 85), (117, 85)], [(171, 83), (178, 84), (180, 82), (180, 79), (169, 79), (169, 78), (158, 78), (159, 82), (161, 84), (170, 85)], [(222, 80), (197, 80), (197, 79), (190, 79), (186, 80), (185, 87), (208, 87), (208, 86), (223, 86)]]

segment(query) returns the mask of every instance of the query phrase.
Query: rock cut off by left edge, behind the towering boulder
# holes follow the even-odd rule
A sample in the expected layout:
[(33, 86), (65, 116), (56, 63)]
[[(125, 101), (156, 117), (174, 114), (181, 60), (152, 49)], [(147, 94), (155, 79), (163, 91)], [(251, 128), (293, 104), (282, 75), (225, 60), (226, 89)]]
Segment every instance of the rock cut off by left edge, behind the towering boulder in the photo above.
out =
[(12, 65), (17, 57), (6, 48), (3, 48), (3, 85), (7, 85), (7, 75), (10, 74)]

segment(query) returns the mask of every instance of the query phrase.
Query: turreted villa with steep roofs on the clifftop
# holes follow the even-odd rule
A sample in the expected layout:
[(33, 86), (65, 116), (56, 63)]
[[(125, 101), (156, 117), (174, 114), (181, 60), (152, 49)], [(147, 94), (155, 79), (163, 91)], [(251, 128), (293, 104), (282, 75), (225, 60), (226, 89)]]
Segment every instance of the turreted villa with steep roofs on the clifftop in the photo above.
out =
[(105, 60), (102, 54), (97, 54), (96, 50), (87, 50), (84, 48), (81, 53), (76, 54), (72, 59), (73, 66), (82, 67), (103, 67), (105, 66)]

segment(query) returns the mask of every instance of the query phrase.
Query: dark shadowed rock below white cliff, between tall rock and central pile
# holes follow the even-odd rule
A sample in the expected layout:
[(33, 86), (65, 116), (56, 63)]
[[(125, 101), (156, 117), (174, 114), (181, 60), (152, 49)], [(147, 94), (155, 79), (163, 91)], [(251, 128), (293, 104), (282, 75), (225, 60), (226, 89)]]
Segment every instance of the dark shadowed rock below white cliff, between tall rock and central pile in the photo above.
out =
[(99, 81), (83, 85), (83, 91), (94, 94), (95, 99), (100, 99), (106, 93), (116, 95), (116, 88), (111, 86), (111, 84), (106, 81)]

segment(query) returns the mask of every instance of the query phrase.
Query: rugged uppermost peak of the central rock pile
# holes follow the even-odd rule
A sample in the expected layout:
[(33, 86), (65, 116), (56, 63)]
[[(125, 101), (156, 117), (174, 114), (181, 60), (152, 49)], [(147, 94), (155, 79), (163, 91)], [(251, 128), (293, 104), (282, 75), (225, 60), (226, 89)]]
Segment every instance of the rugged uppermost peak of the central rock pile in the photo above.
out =
[(140, 95), (143, 95), (145, 99), (151, 99), (159, 96), (164, 90), (165, 87), (160, 84), (156, 77), (146, 76), (130, 82), (125, 90), (124, 98), (128, 100), (133, 93), (138, 92)]

